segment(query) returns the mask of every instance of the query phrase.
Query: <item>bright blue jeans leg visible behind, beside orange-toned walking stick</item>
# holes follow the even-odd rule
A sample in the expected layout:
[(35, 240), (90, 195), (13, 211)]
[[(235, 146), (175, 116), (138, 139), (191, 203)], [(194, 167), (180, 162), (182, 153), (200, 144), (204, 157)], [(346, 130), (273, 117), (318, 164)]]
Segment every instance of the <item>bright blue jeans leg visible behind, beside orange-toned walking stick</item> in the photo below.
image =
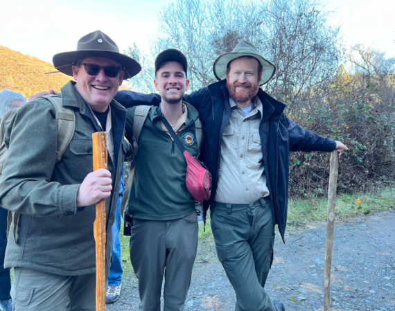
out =
[(122, 283), (122, 260), (121, 260), (121, 241), (119, 240), (119, 231), (121, 229), (121, 202), (122, 197), (118, 197), (115, 210), (115, 221), (112, 225), (112, 263), (109, 267), (108, 285), (118, 286)]

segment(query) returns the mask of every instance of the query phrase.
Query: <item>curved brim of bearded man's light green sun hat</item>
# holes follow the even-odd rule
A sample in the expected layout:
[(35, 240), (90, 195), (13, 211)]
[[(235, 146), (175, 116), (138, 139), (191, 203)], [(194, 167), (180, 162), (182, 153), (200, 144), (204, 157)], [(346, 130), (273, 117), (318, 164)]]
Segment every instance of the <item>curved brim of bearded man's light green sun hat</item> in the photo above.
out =
[(229, 62), (232, 60), (236, 60), (238, 57), (243, 56), (252, 56), (255, 57), (258, 62), (262, 65), (262, 77), (259, 85), (264, 85), (269, 82), (271, 78), (273, 78), (274, 73), (276, 72), (276, 66), (265, 60), (261, 55), (254, 53), (225, 53), (220, 55), (213, 64), (213, 72), (218, 80), (225, 80), (227, 78), (227, 66)]

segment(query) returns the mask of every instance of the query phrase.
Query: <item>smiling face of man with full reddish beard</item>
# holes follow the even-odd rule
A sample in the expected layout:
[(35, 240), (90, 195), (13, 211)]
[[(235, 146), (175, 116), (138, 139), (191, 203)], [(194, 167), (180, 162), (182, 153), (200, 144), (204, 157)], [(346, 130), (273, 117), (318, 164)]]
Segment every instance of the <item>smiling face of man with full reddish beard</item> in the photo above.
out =
[(246, 103), (258, 94), (261, 73), (259, 62), (254, 57), (239, 57), (229, 64), (227, 70), (227, 89), (236, 103)]

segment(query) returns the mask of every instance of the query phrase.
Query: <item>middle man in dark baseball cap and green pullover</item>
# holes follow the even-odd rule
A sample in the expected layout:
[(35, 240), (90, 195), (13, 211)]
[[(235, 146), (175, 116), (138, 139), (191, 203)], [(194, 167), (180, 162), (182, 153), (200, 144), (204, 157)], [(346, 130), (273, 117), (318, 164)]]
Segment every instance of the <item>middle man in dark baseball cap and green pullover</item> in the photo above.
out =
[[(155, 60), (154, 84), (161, 102), (149, 107), (139, 134), (125, 220), (131, 224), (130, 260), (139, 279), (139, 310), (161, 310), (165, 278), (164, 310), (176, 311), (184, 310), (199, 229), (195, 200), (186, 188), (184, 154), (162, 122), (166, 119), (184, 148), (198, 156), (198, 111), (182, 102), (189, 85), (184, 54), (175, 49), (161, 52)], [(136, 107), (127, 110), (125, 136), (133, 141), (134, 114), (139, 112)]]

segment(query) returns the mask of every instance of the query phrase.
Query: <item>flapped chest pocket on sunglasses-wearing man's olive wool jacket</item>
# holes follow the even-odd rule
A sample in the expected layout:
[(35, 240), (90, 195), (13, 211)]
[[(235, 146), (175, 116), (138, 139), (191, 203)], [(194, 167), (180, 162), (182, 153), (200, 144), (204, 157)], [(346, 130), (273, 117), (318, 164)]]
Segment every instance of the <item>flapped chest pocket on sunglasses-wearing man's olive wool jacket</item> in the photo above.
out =
[(73, 139), (70, 142), (69, 174), (75, 179), (85, 179), (93, 172), (91, 139)]

